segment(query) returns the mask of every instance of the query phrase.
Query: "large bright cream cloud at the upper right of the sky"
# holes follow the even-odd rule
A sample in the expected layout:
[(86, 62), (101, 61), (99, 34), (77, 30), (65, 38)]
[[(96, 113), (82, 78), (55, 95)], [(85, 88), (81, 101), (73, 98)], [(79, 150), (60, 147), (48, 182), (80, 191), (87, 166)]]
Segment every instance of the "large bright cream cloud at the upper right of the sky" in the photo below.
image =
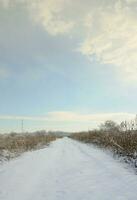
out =
[[(117, 67), (126, 80), (137, 81), (137, 15), (130, 7), (114, 7), (100, 12), (80, 51), (103, 64)], [(94, 17), (93, 17), (94, 18)]]

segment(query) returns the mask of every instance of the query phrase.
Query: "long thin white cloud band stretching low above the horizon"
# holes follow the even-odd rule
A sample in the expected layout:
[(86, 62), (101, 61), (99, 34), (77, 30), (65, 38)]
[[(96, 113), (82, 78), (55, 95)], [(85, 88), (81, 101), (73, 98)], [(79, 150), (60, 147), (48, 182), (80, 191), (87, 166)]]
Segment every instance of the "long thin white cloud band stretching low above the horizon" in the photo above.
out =
[(28, 121), (49, 121), (49, 122), (91, 122), (101, 123), (106, 120), (121, 122), (135, 117), (133, 113), (98, 113), (82, 114), (76, 112), (57, 111), (50, 112), (46, 116), (0, 116), (1, 120), (28, 120)]

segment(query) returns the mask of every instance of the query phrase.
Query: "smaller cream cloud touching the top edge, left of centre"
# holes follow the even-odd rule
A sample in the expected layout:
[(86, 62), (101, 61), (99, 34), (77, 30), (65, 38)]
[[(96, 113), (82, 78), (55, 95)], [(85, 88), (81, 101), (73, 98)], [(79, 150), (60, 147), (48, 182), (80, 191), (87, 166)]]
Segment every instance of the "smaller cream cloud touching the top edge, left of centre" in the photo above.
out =
[(43, 0), (31, 3), (31, 16), (37, 23), (43, 25), (51, 35), (70, 32), (74, 22), (64, 19), (64, 9), (67, 1), (64, 0)]

